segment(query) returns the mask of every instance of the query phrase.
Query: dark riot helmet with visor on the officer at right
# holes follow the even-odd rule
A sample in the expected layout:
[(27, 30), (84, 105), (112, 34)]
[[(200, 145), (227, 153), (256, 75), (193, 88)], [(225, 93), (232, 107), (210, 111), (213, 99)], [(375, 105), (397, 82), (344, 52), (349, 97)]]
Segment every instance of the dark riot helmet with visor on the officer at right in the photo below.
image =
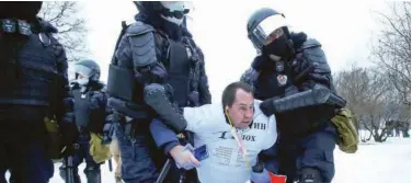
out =
[(281, 27), (285, 27), (285, 32), (288, 34), (285, 15), (270, 8), (262, 8), (253, 12), (249, 18), (248, 37), (254, 47), (261, 50), (268, 39), (276, 38), (273, 37), (275, 36), (275, 30)]

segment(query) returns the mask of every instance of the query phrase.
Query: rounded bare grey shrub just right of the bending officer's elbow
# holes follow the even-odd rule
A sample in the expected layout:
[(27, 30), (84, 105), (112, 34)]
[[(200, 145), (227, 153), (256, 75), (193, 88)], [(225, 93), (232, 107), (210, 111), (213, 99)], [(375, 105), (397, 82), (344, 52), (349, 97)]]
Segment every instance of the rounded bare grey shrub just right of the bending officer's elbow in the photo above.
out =
[(386, 122), (400, 119), (401, 101), (397, 93), (389, 90), (391, 82), (387, 77), (377, 73), (374, 68), (353, 67), (350, 71), (341, 71), (335, 77), (337, 93), (346, 99), (347, 106), (355, 118), (358, 129), (369, 131), (369, 137), (362, 140), (385, 141), (389, 130), (394, 128)]

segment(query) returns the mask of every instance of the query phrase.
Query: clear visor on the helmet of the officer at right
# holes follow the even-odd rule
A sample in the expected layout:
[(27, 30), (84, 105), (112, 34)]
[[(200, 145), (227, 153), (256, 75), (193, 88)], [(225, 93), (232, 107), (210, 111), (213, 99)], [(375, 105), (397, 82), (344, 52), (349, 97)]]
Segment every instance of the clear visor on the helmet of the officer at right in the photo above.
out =
[(281, 27), (287, 26), (282, 14), (275, 14), (263, 20), (249, 35), (253, 45), (261, 49), (284, 34)]

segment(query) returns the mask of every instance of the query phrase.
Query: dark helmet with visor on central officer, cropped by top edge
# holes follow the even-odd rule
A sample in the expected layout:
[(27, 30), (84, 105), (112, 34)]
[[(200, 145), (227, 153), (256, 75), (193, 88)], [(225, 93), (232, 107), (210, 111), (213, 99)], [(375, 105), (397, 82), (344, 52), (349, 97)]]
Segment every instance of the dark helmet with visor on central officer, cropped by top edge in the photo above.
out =
[(182, 24), (190, 8), (185, 1), (134, 1), (139, 12), (146, 14), (159, 14), (164, 20)]

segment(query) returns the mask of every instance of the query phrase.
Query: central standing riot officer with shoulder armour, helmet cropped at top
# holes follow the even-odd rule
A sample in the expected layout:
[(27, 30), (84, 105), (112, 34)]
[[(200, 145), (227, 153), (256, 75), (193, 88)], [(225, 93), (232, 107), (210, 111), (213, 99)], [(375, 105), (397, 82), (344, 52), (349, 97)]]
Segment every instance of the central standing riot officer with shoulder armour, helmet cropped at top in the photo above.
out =
[[(188, 13), (185, 3), (139, 1), (135, 4), (139, 10), (136, 22), (125, 26), (110, 66), (108, 105), (121, 124), (115, 134), (123, 180), (153, 182), (165, 157), (156, 149), (149, 123), (159, 117), (175, 133), (181, 133), (186, 122), (175, 106), (210, 103), (210, 93), (203, 53), (185, 26)], [(145, 90), (149, 83), (164, 85), (168, 94)], [(176, 174), (169, 173), (167, 181), (179, 182), (179, 176), (172, 178)]]

